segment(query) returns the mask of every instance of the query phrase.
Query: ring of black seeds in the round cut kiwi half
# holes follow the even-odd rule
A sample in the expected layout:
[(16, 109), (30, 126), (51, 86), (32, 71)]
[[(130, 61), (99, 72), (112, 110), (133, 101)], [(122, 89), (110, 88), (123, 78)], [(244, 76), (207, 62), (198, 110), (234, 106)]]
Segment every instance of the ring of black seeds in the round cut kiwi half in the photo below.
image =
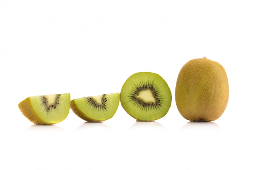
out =
[[(155, 102), (146, 102), (138, 97), (141, 91), (148, 90), (152, 93)], [(161, 100), (159, 99), (158, 92), (155, 90), (153, 83), (142, 84), (135, 87), (135, 91), (133, 91), (132, 95), (130, 95), (129, 97), (136, 105), (139, 105), (142, 109), (151, 110), (157, 109), (159, 106), (161, 106)]]

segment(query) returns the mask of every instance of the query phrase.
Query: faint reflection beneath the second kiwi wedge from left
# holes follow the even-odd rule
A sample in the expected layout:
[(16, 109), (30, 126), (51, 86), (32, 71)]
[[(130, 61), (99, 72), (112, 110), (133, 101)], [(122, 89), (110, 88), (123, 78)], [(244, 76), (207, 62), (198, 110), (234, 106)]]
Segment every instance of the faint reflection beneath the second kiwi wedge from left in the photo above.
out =
[(112, 130), (110, 126), (106, 125), (103, 122), (90, 122), (86, 121), (80, 126), (78, 126), (75, 130)]

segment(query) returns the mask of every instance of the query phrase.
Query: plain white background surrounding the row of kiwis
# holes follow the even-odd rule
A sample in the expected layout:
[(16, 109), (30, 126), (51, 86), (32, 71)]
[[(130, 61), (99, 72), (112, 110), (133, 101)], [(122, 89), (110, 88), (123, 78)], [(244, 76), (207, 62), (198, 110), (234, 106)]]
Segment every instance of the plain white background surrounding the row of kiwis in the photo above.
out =
[[(255, 170), (254, 0), (0, 0), (0, 169)], [(229, 78), (211, 123), (175, 104), (180, 68), (207, 57)], [(136, 122), (119, 105), (103, 123), (74, 115), (35, 126), (18, 109), (34, 95), (116, 93), (133, 73), (161, 75), (165, 117)]]

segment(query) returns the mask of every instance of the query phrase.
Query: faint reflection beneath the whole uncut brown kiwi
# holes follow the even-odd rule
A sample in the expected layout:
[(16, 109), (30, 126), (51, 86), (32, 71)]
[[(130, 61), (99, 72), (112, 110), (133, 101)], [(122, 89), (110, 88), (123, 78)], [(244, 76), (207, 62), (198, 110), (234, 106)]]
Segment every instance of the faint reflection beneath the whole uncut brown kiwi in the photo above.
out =
[(208, 122), (208, 121), (189, 121), (182, 127), (181, 130), (221, 130), (220, 126), (215, 122)]

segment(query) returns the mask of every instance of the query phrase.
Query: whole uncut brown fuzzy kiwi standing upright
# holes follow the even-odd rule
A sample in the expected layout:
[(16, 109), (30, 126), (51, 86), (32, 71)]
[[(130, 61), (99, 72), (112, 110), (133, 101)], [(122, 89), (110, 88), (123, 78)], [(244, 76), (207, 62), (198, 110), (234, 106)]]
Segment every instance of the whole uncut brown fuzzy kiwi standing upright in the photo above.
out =
[(225, 69), (205, 57), (182, 66), (175, 87), (180, 114), (190, 121), (214, 121), (226, 109), (229, 83)]

